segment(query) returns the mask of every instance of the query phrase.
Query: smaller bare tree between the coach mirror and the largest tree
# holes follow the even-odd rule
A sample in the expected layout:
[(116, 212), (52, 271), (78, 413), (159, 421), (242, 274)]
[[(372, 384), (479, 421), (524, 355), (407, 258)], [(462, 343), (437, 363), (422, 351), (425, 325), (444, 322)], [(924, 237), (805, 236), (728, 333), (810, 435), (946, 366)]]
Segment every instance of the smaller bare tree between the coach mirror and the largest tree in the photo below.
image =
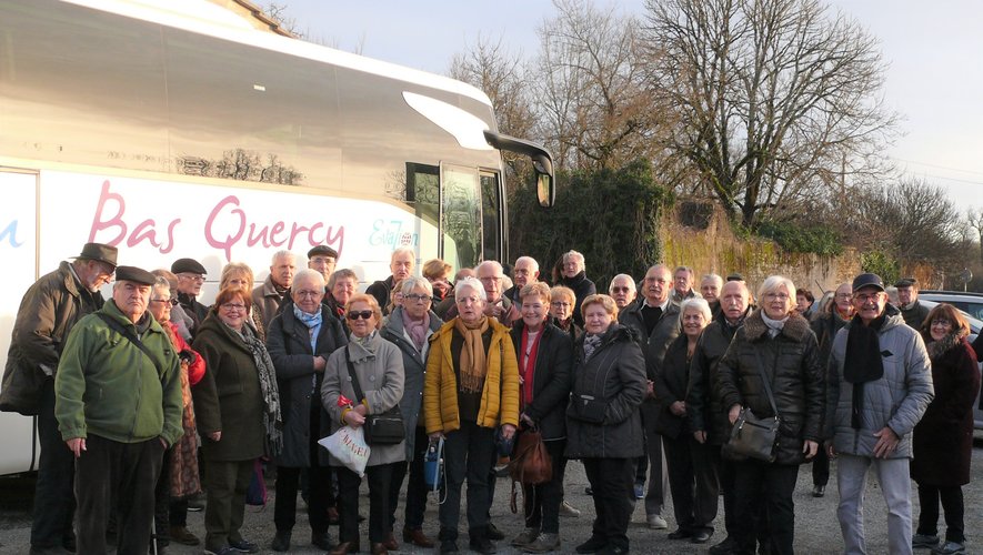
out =
[(554, 0), (533, 73), (539, 137), (568, 169), (653, 159), (659, 115), (643, 89), (638, 21), (586, 0)]

